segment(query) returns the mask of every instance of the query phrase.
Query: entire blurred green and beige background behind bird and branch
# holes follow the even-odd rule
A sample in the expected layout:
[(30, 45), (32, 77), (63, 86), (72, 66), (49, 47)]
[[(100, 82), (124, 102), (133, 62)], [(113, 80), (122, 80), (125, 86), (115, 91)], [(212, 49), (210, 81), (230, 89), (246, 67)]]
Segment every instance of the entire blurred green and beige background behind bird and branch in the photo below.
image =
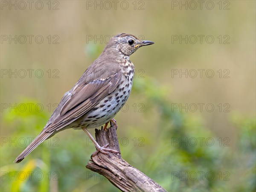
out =
[(122, 32), (155, 42), (130, 57), (122, 158), (168, 191), (256, 191), (255, 1), (23, 2), (1, 1), (1, 191), (119, 191), (85, 168), (82, 131), (13, 161)]

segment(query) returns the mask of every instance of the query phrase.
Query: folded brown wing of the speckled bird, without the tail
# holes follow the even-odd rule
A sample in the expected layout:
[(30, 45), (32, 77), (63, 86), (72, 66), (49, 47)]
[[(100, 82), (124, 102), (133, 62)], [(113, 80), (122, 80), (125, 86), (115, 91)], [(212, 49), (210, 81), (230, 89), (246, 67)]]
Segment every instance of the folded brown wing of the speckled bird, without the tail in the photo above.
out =
[[(66, 125), (74, 122), (79, 117), (90, 111), (104, 97), (116, 89), (118, 82), (121, 80), (121, 73), (114, 73), (107, 79), (94, 79), (86, 84), (77, 84), (73, 88), (72, 95), (65, 95), (59, 105), (58, 115), (52, 120), (52, 123), (43, 129), (45, 132), (59, 131)], [(67, 98), (68, 97), (68, 98)]]

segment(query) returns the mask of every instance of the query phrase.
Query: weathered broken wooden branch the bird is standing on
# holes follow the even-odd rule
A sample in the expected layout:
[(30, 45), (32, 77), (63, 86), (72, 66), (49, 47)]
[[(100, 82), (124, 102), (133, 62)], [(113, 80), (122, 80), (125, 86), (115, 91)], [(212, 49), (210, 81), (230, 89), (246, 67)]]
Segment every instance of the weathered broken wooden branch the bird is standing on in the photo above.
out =
[[(108, 148), (120, 152), (116, 128), (117, 126), (114, 124), (111, 125), (107, 131), (95, 129), (95, 136), (100, 146), (109, 143)], [(166, 192), (166, 190), (154, 182), (154, 180), (123, 160), (121, 154), (114, 154), (112, 152), (108, 154), (98, 153), (96, 156), (91, 157), (86, 168), (103, 175), (114, 186), (124, 192)]]

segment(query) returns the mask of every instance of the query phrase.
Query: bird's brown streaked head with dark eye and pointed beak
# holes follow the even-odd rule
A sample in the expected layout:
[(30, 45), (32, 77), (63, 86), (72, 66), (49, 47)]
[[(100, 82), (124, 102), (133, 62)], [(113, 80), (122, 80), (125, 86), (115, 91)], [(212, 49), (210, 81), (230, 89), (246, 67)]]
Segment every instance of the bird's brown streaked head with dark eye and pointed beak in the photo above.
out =
[(107, 47), (112, 47), (121, 52), (123, 55), (130, 56), (142, 46), (154, 44), (152, 41), (140, 41), (134, 35), (121, 33), (113, 36), (108, 42)]

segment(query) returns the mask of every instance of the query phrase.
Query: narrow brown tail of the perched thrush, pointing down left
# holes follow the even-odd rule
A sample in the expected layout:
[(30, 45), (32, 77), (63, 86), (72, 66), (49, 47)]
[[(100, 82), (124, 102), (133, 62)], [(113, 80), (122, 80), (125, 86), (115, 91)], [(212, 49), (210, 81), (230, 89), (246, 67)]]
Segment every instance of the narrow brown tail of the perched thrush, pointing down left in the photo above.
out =
[(20, 163), (31, 151), (33, 151), (38, 145), (40, 145), (44, 140), (52, 137), (53, 132), (42, 131), (38, 137), (36, 137), (32, 143), (30, 143), (24, 151), (15, 159), (14, 163)]

